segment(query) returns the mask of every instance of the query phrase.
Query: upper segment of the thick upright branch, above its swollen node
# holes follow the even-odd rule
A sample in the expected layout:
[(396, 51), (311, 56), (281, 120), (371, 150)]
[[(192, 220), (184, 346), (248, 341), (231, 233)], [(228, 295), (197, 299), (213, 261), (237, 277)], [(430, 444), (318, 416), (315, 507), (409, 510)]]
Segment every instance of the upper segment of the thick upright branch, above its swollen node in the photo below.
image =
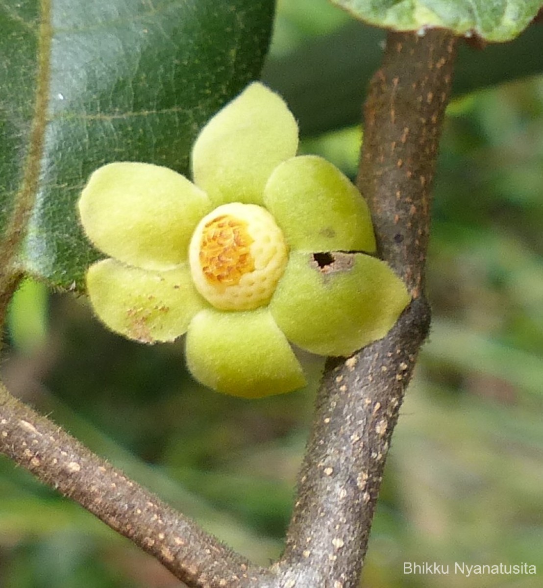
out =
[(431, 188), (457, 39), (444, 31), (390, 34), (364, 108), (358, 186), (372, 211), (379, 254), (424, 292)]

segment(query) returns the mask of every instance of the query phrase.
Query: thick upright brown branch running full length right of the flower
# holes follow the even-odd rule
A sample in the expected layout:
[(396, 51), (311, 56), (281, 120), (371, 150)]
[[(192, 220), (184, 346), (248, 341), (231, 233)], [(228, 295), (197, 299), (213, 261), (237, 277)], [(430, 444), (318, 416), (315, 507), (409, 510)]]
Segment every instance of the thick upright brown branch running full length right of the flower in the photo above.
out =
[(386, 338), (327, 364), (287, 549), (277, 564), (282, 586), (358, 586), (392, 430), (429, 328), (430, 190), (454, 49), (447, 32), (391, 33), (371, 82), (358, 184), (379, 253), (413, 300)]

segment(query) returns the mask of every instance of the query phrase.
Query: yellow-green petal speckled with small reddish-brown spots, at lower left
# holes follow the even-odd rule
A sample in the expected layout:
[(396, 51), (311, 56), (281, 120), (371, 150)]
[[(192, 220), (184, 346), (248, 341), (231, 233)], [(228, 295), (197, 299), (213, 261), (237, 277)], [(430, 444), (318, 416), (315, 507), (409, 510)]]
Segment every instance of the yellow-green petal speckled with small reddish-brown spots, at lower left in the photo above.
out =
[(86, 285), (98, 318), (142, 343), (173, 341), (207, 306), (192, 284), (188, 264), (152, 272), (105, 259), (89, 268)]

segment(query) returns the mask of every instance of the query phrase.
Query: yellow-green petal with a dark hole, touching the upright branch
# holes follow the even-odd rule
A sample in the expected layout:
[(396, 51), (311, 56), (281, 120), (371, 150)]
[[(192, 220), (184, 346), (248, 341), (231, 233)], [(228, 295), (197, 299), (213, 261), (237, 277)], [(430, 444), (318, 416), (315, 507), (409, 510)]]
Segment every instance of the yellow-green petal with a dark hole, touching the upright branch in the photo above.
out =
[(408, 302), (402, 280), (379, 259), (294, 252), (269, 309), (295, 345), (347, 356), (384, 337)]

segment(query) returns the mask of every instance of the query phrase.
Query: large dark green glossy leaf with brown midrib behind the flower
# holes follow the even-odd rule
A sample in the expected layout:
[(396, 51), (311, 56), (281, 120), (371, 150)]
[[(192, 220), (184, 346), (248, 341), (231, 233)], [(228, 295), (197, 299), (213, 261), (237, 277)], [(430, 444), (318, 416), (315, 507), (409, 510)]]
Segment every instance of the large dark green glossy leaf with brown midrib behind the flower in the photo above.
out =
[(274, 4), (0, 5), (0, 235), (12, 226), (0, 257), (30, 218), (22, 268), (81, 286), (98, 259), (75, 209), (90, 173), (112, 161), (186, 173), (199, 129), (258, 77)]

